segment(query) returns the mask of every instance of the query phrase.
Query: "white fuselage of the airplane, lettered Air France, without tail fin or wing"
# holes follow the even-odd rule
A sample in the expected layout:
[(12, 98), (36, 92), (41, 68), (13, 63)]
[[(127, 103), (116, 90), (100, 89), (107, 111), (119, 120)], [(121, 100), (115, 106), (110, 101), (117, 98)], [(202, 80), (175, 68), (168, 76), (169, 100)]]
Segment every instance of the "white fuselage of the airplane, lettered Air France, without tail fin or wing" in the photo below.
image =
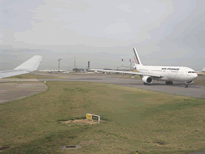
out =
[(160, 75), (162, 78), (154, 79), (162, 81), (193, 81), (198, 76), (193, 69), (188, 67), (136, 65), (136, 70), (140, 73)]

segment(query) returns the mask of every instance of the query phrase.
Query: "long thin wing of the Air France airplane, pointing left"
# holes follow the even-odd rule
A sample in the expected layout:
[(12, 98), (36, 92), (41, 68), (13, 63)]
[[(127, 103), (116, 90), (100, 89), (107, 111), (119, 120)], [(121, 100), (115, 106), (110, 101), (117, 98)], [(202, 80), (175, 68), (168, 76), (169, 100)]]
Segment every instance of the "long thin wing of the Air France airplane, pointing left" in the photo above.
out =
[(143, 76), (150, 76), (150, 77), (155, 77), (155, 78), (161, 78), (162, 77), (160, 75), (155, 75), (155, 74), (151, 74), (151, 73), (140, 73), (140, 72), (131, 72), (131, 71), (114, 71), (114, 70), (103, 70), (103, 69), (90, 69), (90, 70), (97, 71), (97, 72), (110, 72), (110, 73), (143, 75)]

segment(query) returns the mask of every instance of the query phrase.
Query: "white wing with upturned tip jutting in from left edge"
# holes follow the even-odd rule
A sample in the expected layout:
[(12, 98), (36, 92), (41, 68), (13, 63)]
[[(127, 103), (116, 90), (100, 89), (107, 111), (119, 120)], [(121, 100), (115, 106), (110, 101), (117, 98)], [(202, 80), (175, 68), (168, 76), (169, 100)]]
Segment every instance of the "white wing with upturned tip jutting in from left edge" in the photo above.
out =
[(43, 57), (40, 55), (35, 55), (21, 65), (19, 65), (18, 67), (14, 68), (13, 70), (0, 71), (0, 79), (35, 71), (37, 70), (42, 58)]

